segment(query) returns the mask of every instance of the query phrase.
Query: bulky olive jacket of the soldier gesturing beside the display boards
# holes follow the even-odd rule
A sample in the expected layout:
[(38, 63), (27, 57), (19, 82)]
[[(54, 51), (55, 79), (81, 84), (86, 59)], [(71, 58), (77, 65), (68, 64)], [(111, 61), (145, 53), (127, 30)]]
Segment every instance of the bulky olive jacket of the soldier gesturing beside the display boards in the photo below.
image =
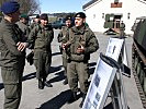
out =
[[(78, 29), (74, 26), (69, 31), (68, 56), (72, 61), (88, 61), (90, 59), (90, 53), (94, 52), (99, 48), (98, 39), (93, 32), (88, 27), (83, 26)], [(85, 52), (77, 53), (78, 47), (83, 47)]]

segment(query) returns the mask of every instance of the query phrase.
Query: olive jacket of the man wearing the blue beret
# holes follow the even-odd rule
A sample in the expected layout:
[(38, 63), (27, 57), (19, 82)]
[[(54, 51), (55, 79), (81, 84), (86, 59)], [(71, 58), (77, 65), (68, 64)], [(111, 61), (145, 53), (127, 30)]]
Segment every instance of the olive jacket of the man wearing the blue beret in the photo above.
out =
[(4, 68), (21, 69), (25, 64), (25, 51), (18, 50), (16, 44), (22, 40), (22, 33), (16, 24), (7, 20), (0, 23), (0, 65)]

